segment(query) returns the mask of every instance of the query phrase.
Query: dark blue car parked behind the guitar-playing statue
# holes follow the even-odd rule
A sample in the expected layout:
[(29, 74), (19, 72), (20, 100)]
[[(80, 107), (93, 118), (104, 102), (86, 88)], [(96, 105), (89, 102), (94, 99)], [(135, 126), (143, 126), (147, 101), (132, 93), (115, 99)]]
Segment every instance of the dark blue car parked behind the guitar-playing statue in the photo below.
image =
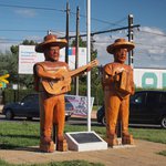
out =
[[(71, 117), (73, 113), (73, 105), (65, 97), (65, 120)], [(29, 94), (21, 100), (21, 102), (8, 103), (2, 108), (2, 114), (6, 115), (7, 120), (12, 120), (13, 117), (27, 117), (32, 120), (33, 117), (40, 117), (39, 108), (39, 95)]]

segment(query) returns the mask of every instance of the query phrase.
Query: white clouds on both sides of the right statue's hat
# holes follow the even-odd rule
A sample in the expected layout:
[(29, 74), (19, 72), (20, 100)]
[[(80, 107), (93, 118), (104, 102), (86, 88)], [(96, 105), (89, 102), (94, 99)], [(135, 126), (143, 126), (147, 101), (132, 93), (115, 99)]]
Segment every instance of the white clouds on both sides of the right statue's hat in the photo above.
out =
[[(107, 54), (106, 46), (117, 38), (127, 39), (127, 31), (95, 35), (93, 39), (97, 49), (101, 64), (113, 62), (113, 56)], [(134, 66), (137, 68), (166, 68), (166, 33), (157, 28), (143, 27), (139, 31), (134, 29)]]

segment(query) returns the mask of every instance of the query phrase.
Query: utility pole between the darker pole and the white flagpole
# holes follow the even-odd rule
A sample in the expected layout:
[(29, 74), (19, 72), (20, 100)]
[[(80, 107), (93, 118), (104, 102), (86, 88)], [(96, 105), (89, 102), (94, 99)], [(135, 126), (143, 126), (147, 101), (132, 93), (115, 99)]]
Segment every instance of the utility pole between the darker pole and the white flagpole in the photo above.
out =
[[(76, 8), (76, 38), (75, 38), (75, 69), (79, 68), (79, 27), (80, 27), (80, 9)], [(79, 95), (79, 76), (75, 77), (75, 95)]]

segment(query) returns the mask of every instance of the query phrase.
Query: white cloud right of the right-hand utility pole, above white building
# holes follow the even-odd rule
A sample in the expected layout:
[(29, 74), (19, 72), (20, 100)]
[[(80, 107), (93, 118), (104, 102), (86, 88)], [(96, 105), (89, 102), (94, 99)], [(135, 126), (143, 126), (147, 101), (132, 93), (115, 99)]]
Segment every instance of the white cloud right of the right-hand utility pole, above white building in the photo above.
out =
[[(166, 34), (157, 28), (141, 28), (135, 33), (135, 56), (138, 56), (144, 66), (165, 68), (166, 64)], [(137, 61), (135, 64), (137, 65)], [(139, 63), (141, 63), (139, 62)]]

